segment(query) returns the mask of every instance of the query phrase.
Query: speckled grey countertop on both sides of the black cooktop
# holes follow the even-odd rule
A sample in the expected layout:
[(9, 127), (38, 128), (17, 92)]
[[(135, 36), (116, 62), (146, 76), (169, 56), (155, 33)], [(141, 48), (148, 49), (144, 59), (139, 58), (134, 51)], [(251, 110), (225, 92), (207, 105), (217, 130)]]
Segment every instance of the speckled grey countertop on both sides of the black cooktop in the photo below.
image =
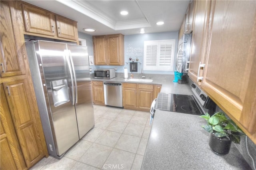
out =
[[(127, 81), (123, 77), (93, 79), (122, 83), (146, 83)], [(188, 84), (172, 80), (153, 79), (146, 84), (162, 85), (161, 93), (192, 95)], [(232, 143), (225, 156), (214, 154), (208, 144), (210, 134), (201, 125), (206, 121), (198, 115), (156, 110), (142, 170), (250, 170), (238, 149)]]

